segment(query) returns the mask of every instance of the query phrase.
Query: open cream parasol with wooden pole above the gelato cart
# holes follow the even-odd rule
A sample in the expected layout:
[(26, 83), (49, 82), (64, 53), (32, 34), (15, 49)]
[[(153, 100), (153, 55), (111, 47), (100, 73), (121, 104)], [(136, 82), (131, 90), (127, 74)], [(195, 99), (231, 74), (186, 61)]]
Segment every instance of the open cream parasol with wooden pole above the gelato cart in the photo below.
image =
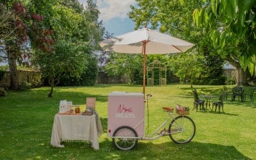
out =
[(99, 43), (103, 51), (143, 54), (143, 93), (145, 96), (146, 54), (185, 52), (194, 44), (170, 35), (143, 28)]

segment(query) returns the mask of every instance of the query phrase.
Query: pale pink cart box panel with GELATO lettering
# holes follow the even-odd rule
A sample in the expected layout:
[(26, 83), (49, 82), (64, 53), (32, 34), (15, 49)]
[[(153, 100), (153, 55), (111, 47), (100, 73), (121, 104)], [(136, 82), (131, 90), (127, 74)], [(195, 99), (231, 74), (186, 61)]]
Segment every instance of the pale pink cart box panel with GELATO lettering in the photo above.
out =
[(138, 136), (144, 136), (144, 95), (134, 92), (111, 92), (108, 94), (108, 136), (118, 127), (132, 127)]

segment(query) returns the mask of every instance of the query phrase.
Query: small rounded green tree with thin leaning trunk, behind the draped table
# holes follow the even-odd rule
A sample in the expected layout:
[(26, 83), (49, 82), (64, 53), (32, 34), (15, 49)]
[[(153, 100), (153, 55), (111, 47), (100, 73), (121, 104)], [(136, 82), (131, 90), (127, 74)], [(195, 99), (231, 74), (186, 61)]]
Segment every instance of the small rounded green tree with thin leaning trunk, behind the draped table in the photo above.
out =
[(80, 77), (88, 63), (86, 54), (81, 52), (79, 46), (62, 40), (54, 47), (55, 51), (51, 54), (40, 51), (35, 54), (35, 60), (40, 65), (42, 76), (51, 86), (48, 97), (52, 97), (54, 86), (60, 83), (61, 76), (68, 74), (69, 77)]

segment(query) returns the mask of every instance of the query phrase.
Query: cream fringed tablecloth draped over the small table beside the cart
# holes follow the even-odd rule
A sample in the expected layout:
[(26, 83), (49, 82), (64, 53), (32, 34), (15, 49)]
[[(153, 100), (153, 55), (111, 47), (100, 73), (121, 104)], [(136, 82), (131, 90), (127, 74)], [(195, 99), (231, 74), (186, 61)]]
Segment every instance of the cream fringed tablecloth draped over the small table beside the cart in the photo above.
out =
[(95, 115), (57, 114), (54, 116), (51, 145), (54, 147), (64, 147), (64, 145), (61, 145), (61, 141), (90, 141), (92, 142), (92, 147), (95, 150), (99, 150), (98, 136), (102, 132), (100, 120), (96, 121)]

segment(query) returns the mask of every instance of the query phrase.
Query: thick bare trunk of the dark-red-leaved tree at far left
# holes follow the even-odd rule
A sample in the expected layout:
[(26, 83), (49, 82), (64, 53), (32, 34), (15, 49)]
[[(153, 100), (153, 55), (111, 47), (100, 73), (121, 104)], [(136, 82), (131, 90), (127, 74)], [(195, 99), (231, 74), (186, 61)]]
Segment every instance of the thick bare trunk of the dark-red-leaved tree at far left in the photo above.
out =
[(19, 76), (17, 72), (17, 52), (14, 50), (8, 51), (8, 63), (10, 68), (11, 89), (19, 90)]

